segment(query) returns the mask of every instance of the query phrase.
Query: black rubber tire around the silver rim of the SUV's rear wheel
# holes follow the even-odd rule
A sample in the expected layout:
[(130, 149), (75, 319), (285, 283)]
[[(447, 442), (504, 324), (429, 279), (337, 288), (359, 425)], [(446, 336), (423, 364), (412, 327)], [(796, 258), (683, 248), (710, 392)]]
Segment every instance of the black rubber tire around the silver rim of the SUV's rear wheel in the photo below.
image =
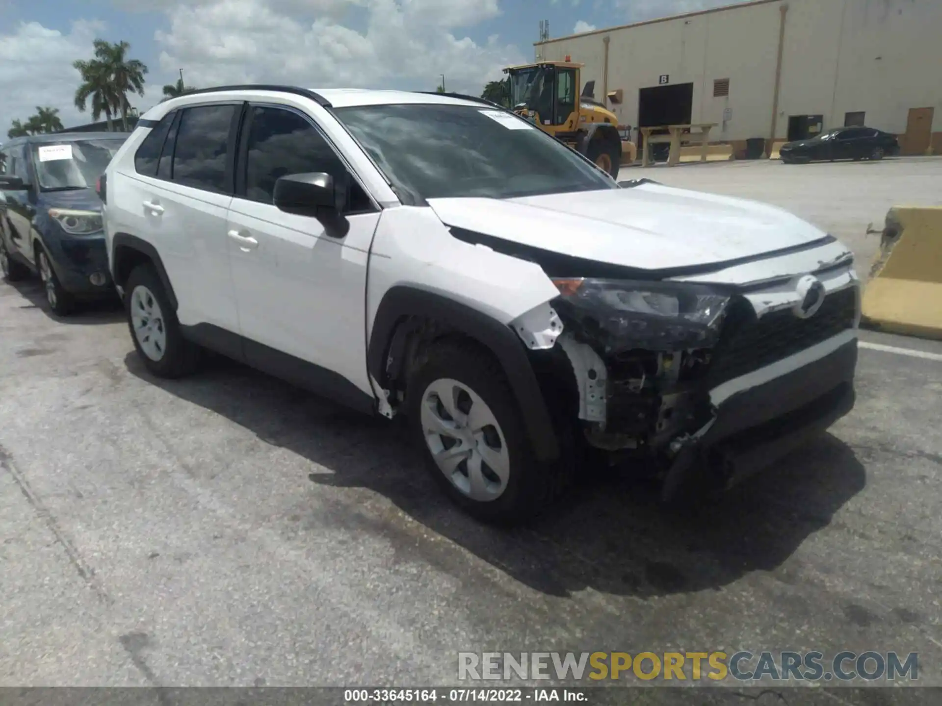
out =
[[(146, 288), (146, 290), (141, 291), (149, 292), (159, 307), (160, 323), (166, 336), (166, 345), (163, 346), (162, 357), (159, 360), (154, 360), (145, 353), (140, 341), (138, 341), (138, 333), (135, 330), (132, 315), (132, 302), (135, 290), (138, 287)], [(180, 321), (171, 307), (167, 293), (164, 291), (164, 285), (157, 276), (154, 265), (138, 265), (131, 271), (131, 275), (124, 283), (124, 311), (127, 314), (127, 326), (134, 347), (138, 351), (140, 360), (144, 362), (144, 366), (151, 373), (157, 377), (173, 379), (185, 377), (196, 370), (200, 362), (200, 346), (187, 341), (184, 337), (183, 331), (180, 329)]]

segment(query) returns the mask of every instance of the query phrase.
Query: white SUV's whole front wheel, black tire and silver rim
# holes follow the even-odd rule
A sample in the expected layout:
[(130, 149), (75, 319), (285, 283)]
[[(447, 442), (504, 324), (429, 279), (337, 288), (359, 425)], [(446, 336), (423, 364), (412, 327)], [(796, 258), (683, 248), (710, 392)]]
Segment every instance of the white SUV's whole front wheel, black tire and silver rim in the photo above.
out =
[(432, 345), (408, 386), (414, 441), (435, 481), (485, 521), (525, 521), (549, 505), (560, 472), (538, 463), (507, 377), (472, 345)]

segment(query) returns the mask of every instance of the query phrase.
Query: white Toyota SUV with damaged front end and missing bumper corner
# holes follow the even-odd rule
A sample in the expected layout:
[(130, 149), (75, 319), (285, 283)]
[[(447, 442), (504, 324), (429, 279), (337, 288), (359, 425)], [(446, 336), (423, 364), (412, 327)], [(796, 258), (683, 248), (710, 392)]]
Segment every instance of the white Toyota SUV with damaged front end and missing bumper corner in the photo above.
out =
[(161, 377), (202, 348), (405, 415), (479, 517), (579, 459), (722, 489), (853, 407), (851, 253), (771, 206), (608, 174), (455, 95), (215, 88), (107, 168), (107, 249)]

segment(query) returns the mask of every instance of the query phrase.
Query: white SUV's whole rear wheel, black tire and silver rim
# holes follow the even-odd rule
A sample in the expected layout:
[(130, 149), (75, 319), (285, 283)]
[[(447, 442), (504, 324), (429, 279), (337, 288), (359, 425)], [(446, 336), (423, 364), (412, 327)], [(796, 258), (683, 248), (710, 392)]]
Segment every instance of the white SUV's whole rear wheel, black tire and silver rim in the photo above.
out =
[(138, 355), (158, 377), (184, 377), (200, 360), (200, 347), (187, 341), (154, 265), (138, 265), (124, 285), (127, 324)]

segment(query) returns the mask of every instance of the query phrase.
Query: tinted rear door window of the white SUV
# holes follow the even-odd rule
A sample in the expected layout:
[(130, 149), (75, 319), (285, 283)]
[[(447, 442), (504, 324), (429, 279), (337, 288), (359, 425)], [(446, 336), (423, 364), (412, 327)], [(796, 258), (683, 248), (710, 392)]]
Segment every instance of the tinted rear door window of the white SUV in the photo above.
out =
[(201, 105), (182, 111), (173, 150), (174, 182), (206, 191), (226, 190), (226, 148), (235, 109), (235, 105)]

